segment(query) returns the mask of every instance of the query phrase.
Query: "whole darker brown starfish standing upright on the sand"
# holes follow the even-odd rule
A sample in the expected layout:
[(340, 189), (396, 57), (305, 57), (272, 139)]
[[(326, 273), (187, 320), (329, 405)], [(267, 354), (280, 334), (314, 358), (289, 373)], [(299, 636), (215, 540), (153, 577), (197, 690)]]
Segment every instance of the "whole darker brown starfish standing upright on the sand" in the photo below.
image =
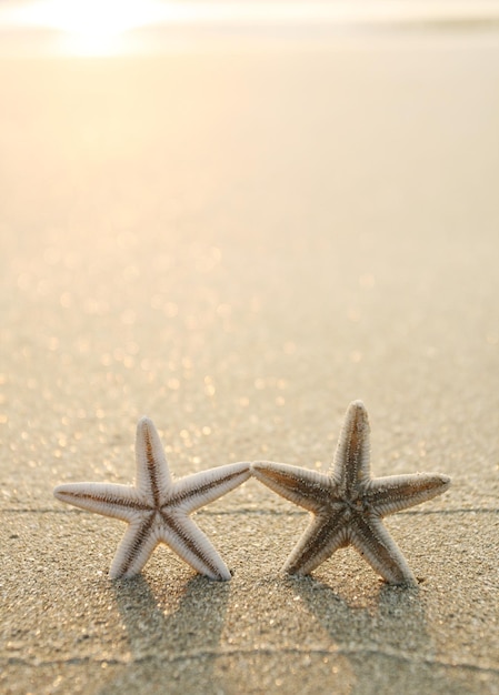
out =
[(353, 545), (391, 584), (416, 584), (381, 520), (445, 492), (447, 475), (370, 476), (369, 421), (361, 401), (350, 403), (329, 475), (285, 463), (258, 462), (253, 475), (313, 514), (283, 571), (309, 574), (335, 551)]

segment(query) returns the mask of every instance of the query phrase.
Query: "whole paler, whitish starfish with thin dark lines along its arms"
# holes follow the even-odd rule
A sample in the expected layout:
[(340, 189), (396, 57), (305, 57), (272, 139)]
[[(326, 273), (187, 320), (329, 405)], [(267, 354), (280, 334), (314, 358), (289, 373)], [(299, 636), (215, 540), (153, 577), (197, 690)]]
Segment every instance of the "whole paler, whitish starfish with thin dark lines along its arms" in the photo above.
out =
[(226, 563), (189, 514), (246, 481), (250, 464), (232, 463), (172, 481), (158, 432), (148, 417), (137, 425), (136, 460), (133, 487), (72, 483), (53, 491), (62, 502), (129, 523), (109, 576), (139, 574), (162, 542), (197, 572), (212, 580), (230, 580)]

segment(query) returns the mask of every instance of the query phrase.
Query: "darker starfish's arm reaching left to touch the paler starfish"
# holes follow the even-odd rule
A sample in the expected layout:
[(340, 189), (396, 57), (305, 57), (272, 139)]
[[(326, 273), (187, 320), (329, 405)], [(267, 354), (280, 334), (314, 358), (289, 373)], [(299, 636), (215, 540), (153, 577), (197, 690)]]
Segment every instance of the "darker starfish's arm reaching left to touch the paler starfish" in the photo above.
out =
[(330, 500), (335, 492), (327, 475), (287, 463), (258, 461), (251, 464), (251, 472), (267, 487), (309, 512), (320, 510), (325, 497)]

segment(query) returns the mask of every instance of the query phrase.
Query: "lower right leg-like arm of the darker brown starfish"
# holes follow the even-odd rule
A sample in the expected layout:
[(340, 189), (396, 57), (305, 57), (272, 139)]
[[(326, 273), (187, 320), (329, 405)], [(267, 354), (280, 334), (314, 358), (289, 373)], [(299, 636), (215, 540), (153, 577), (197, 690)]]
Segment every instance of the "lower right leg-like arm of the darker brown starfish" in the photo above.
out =
[(381, 520), (356, 515), (350, 522), (350, 543), (389, 584), (416, 584), (415, 575)]

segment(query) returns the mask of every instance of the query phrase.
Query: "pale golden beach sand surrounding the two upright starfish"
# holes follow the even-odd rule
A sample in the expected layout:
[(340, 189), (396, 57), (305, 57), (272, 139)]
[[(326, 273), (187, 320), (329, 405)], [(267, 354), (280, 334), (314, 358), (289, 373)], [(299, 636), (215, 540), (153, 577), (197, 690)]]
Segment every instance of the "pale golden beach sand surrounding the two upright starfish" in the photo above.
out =
[[(0, 689), (499, 693), (499, 40), (0, 62)], [(198, 515), (234, 571), (52, 496), (130, 483), (137, 420), (184, 475), (327, 471), (362, 399), (420, 578), (281, 566), (307, 514), (250, 480)]]

